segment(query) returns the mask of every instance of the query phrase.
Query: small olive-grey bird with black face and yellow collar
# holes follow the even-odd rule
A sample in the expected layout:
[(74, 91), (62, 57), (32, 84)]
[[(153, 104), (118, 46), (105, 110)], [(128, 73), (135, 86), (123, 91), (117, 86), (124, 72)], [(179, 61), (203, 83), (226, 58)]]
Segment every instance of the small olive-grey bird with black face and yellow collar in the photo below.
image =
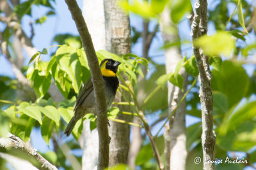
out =
[[(100, 63), (100, 71), (105, 83), (105, 96), (108, 108), (109, 106), (111, 106), (113, 99), (115, 98), (116, 90), (119, 85), (118, 78), (116, 77), (116, 71), (120, 64), (121, 62), (113, 59), (104, 59)], [(86, 113), (94, 113), (95, 115), (95, 107), (96, 102), (92, 78), (89, 78), (84, 84), (83, 89), (79, 93), (79, 96), (77, 97), (76, 106), (74, 108), (74, 116), (68, 123), (64, 133), (69, 136), (74, 126), (76, 125), (76, 122), (80, 118), (83, 118)]]

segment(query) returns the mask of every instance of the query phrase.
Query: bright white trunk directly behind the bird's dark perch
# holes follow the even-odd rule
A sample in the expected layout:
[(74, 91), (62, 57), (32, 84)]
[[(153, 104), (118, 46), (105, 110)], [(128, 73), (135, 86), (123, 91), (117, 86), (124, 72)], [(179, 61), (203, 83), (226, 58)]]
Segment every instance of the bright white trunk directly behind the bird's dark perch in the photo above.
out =
[[(103, 0), (84, 0), (83, 15), (92, 36), (95, 51), (104, 50), (106, 43)], [(83, 149), (82, 169), (97, 169), (99, 136), (97, 128), (90, 131), (90, 121), (83, 122), (83, 132), (79, 144)]]

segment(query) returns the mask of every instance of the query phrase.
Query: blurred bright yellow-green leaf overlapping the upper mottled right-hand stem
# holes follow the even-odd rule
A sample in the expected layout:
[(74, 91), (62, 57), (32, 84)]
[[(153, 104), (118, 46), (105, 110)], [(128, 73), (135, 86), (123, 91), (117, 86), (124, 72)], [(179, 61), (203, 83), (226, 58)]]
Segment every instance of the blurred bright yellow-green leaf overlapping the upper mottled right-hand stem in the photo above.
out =
[(230, 53), (236, 48), (235, 41), (232, 35), (225, 31), (218, 31), (212, 36), (204, 35), (194, 42), (197, 47), (202, 47), (204, 53), (207, 55), (225, 55), (229, 56)]

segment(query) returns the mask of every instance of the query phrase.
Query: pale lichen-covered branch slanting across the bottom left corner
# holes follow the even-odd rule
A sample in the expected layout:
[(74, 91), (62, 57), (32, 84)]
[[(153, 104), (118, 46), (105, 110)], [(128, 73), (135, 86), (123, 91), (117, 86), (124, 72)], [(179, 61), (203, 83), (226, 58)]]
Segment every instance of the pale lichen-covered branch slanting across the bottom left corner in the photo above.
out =
[[(20, 152), (17, 152), (17, 150)], [(13, 156), (20, 155), (19, 153), (21, 153), (20, 158), (27, 158), (26, 160), (31, 162), (31, 164), (38, 169), (57, 170), (57, 168), (48, 162), (48, 160), (44, 159), (35, 148), (27, 145), (22, 139), (13, 134), (8, 134), (8, 138), (0, 137), (0, 152), (8, 153)]]

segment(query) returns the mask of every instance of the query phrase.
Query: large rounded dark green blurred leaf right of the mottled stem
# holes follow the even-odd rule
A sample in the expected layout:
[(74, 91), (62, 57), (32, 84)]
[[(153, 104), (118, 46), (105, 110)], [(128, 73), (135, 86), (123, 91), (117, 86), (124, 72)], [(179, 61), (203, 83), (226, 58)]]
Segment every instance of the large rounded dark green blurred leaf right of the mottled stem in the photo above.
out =
[(219, 90), (227, 96), (229, 108), (245, 96), (248, 87), (248, 74), (236, 62), (225, 60), (220, 71), (212, 70), (212, 90)]

